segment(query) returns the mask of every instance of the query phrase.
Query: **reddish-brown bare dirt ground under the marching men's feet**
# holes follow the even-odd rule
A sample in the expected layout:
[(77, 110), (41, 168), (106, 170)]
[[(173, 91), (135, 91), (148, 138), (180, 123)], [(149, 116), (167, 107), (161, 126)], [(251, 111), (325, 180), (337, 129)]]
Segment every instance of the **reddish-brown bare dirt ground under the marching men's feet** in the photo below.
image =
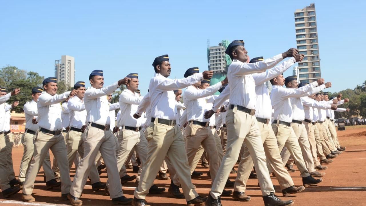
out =
[[(339, 131), (339, 140), (342, 146), (346, 146), (346, 151), (339, 157), (334, 159), (334, 162), (328, 166), (323, 177), (323, 182), (317, 186), (306, 188), (305, 191), (283, 199), (293, 199), (295, 205), (366, 205), (366, 126), (350, 126), (346, 127), (345, 131)], [(15, 174), (19, 174), (20, 160), (23, 154), (23, 147), (13, 149), (13, 162)], [(52, 159), (52, 157), (51, 157)], [(235, 165), (237, 168), (238, 165)], [(197, 166), (197, 171), (203, 172), (203, 176), (198, 179), (193, 179), (193, 184), (197, 187), (197, 192), (201, 196), (207, 196), (210, 190), (211, 181), (206, 176), (208, 169)], [(107, 181), (107, 173), (101, 174), (101, 181)], [(134, 175), (132, 170), (128, 170), (130, 175)], [(75, 169), (71, 170), (71, 179), (74, 177)], [(295, 185), (302, 185), (302, 179), (299, 171), (290, 173)], [(230, 179), (235, 180), (236, 174), (231, 174)], [(279, 185), (278, 181), (272, 177), (274, 185)], [(184, 206), (186, 201), (184, 199), (171, 198), (167, 192), (170, 180), (155, 180), (158, 187), (165, 187), (166, 192), (158, 195), (147, 195), (146, 200), (153, 206)], [(258, 180), (250, 179), (247, 183), (246, 194), (250, 195), (252, 200), (250, 202), (237, 202), (228, 197), (222, 198), (224, 206), (262, 206), (263, 201), (261, 191), (257, 187)], [(133, 197), (135, 184), (134, 181), (123, 185), (122, 189), (124, 195), (128, 198)], [(232, 190), (232, 188), (226, 188)], [(69, 201), (60, 198), (60, 190), (46, 190), (43, 181), (42, 170), (38, 173), (36, 184), (34, 185), (33, 196), (37, 202), (24, 203), (21, 202), (21, 192), (11, 196), (11, 198), (0, 199), (0, 206), (2, 205), (70, 205)], [(281, 190), (277, 187), (276, 195), (282, 195)], [(90, 185), (86, 185), (81, 198), (84, 201), (83, 205), (87, 206), (101, 206), (112, 205), (109, 196), (104, 195), (104, 191), (93, 192)]]

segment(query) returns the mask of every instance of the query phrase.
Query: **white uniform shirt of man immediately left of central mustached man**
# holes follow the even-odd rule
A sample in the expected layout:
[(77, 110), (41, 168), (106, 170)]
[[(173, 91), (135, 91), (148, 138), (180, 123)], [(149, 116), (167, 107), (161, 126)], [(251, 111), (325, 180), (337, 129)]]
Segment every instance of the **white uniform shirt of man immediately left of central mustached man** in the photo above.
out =
[(121, 115), (117, 118), (117, 126), (132, 126), (139, 127), (142, 124), (143, 118), (135, 119), (133, 115), (136, 113), (138, 105), (143, 98), (138, 93), (133, 93), (129, 89), (123, 90), (119, 95), (119, 106)]

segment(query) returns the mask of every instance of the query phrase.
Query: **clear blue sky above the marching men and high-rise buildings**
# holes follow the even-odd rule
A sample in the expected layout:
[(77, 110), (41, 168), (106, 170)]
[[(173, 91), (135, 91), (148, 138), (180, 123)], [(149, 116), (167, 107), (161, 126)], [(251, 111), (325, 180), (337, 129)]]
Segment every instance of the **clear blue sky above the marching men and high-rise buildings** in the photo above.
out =
[(105, 85), (136, 72), (145, 95), (156, 56), (169, 54), (171, 78), (189, 67), (206, 70), (207, 39), (212, 46), (243, 39), (251, 58), (296, 47), (294, 11), (310, 3), (328, 91), (362, 84), (365, 1), (1, 1), (0, 67), (49, 77), (54, 61), (70, 55), (76, 81), (94, 69), (104, 70)]

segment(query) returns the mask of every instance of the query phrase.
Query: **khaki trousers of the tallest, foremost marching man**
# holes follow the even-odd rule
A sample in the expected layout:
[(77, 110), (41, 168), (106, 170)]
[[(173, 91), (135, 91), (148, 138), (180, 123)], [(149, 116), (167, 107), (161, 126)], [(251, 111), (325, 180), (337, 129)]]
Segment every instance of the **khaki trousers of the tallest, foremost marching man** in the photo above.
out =
[(248, 147), (253, 159), (262, 195), (266, 196), (275, 192), (266, 166), (266, 155), (257, 119), (253, 115), (237, 110), (235, 106), (234, 109), (227, 112), (226, 126), (227, 150), (212, 184), (211, 196), (216, 199), (222, 194), (230, 171), (238, 161), (243, 142)]

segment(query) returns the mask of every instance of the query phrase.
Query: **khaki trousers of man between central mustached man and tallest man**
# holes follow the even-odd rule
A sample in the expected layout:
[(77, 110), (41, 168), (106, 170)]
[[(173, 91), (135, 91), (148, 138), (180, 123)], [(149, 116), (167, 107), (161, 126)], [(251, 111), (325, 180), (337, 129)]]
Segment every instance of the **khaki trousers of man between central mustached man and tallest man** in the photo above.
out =
[(186, 126), (187, 157), (191, 174), (196, 168), (197, 163), (195, 163), (195, 165), (191, 164), (197, 154), (198, 148), (202, 146), (210, 159), (210, 175), (213, 182), (216, 177), (217, 170), (219, 169), (219, 155), (217, 153), (215, 137), (209, 127), (194, 125), (192, 123), (193, 121)]

